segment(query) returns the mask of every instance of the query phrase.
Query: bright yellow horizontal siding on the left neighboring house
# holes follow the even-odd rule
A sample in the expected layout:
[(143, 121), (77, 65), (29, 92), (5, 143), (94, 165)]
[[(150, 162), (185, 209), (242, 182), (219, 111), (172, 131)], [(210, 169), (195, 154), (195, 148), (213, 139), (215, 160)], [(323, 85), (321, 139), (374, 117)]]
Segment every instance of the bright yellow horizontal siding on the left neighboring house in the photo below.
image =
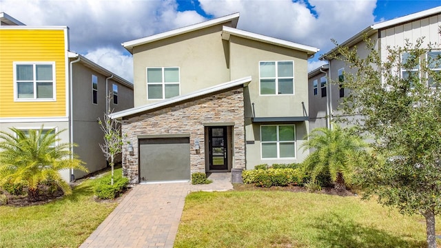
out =
[[(65, 30), (0, 29), (0, 118), (66, 114)], [(57, 101), (14, 102), (14, 62), (54, 62)]]

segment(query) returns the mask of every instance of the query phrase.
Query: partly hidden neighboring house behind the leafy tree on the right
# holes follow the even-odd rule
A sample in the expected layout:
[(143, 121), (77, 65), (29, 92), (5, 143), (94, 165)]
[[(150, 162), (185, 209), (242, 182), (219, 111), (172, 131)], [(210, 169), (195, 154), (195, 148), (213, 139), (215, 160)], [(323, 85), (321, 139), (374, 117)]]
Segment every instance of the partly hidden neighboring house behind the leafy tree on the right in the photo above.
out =
[[(388, 46), (390, 48), (403, 48), (407, 41), (415, 44), (418, 39), (424, 37), (423, 48), (427, 47), (429, 43), (433, 45), (433, 49), (424, 54), (424, 56), (431, 56), (435, 59), (438, 54), (441, 54), (440, 26), (441, 7), (436, 7), (369, 25), (365, 30), (360, 31), (347, 41), (342, 42), (340, 46), (356, 48), (360, 57), (365, 57), (369, 51), (365, 49), (366, 44), (364, 37), (369, 37), (374, 43), (375, 48), (380, 52), (382, 60), (386, 61)], [(347, 89), (340, 87), (338, 83), (321, 84), (321, 82), (327, 81), (327, 79), (334, 82), (344, 81), (344, 74), (351, 73), (351, 70), (347, 68), (344, 62), (329, 57), (329, 54), (334, 53), (336, 49), (337, 48), (334, 48), (334, 50), (320, 57), (320, 59), (328, 62), (327, 65), (312, 70), (308, 75), (309, 127), (311, 130), (314, 127), (329, 127), (333, 116), (338, 114), (336, 109), (341, 101), (340, 99), (349, 93)], [(402, 54), (402, 59), (405, 59), (405, 57), (406, 54)], [(431, 69), (441, 71), (441, 68)], [(421, 74), (422, 78), (425, 76), (426, 75)], [(324, 92), (325, 94), (323, 94)]]

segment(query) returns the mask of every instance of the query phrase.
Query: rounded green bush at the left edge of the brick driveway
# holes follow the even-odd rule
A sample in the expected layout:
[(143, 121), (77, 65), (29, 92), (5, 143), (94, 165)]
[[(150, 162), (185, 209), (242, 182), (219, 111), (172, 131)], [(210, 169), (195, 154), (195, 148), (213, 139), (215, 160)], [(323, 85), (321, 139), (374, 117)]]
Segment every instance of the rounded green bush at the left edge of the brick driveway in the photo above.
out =
[(94, 193), (100, 199), (114, 199), (125, 192), (129, 179), (123, 177), (114, 178), (113, 185), (110, 185), (110, 176), (105, 176), (96, 183)]

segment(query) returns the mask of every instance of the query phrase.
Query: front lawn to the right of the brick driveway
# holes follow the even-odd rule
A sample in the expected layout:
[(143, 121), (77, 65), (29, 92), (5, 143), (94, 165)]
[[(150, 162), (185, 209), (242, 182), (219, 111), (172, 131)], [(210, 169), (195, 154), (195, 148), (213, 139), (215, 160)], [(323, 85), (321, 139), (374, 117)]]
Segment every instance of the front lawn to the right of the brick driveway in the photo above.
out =
[(425, 235), (422, 216), (358, 197), (194, 192), (174, 247), (427, 247)]

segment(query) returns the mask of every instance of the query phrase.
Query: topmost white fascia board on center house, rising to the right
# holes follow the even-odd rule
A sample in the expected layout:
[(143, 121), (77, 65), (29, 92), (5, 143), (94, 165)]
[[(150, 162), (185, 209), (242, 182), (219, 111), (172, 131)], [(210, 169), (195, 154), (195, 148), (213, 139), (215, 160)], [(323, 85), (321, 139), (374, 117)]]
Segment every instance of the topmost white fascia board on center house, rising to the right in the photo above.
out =
[[(149, 37), (144, 37), (144, 38), (136, 39), (136, 40), (133, 40), (133, 41), (127, 41), (127, 42), (121, 43), (121, 45), (123, 45), (123, 47), (125, 49), (130, 51), (136, 45), (144, 45), (144, 44), (151, 43), (151, 42), (154, 42), (154, 41), (158, 41), (158, 40), (161, 40), (161, 39), (166, 39), (166, 38), (169, 38), (169, 37), (174, 37), (174, 36), (176, 36), (178, 34), (185, 34), (187, 32), (192, 32), (192, 31), (195, 31), (195, 30), (201, 30), (203, 28), (208, 28), (208, 27), (211, 27), (211, 26), (214, 26), (214, 25), (218, 25), (220, 23), (225, 23), (227, 21), (233, 21), (234, 19), (238, 19), (238, 18), (239, 18), (239, 13), (229, 14), (229, 15), (227, 15), (225, 17), (219, 17), (219, 18), (216, 18), (216, 19), (211, 19), (209, 21), (204, 21), (204, 22), (201, 22), (201, 23), (196, 23), (194, 25), (189, 25), (187, 27), (178, 28), (176, 30), (170, 30), (170, 31), (167, 31), (167, 32), (162, 32), (160, 34), (154, 34), (154, 35), (149, 36)], [(237, 23), (237, 21), (234, 22), (234, 23)]]

